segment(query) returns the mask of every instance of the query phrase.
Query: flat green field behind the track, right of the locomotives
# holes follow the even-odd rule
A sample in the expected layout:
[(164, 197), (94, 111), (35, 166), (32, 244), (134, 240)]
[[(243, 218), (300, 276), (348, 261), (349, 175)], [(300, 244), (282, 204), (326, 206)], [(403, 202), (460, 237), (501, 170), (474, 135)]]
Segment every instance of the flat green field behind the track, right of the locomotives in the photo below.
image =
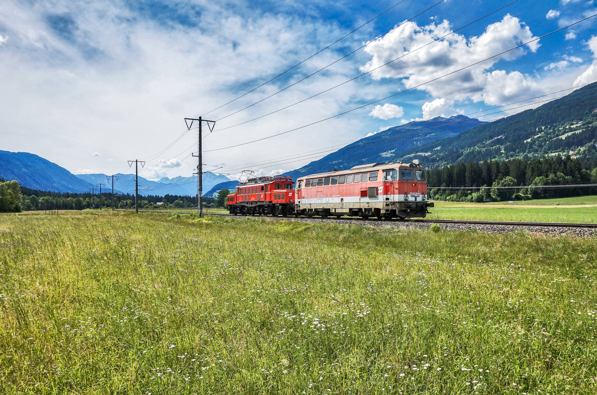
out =
[(522, 221), (597, 224), (597, 196), (528, 202), (434, 202), (428, 220)]

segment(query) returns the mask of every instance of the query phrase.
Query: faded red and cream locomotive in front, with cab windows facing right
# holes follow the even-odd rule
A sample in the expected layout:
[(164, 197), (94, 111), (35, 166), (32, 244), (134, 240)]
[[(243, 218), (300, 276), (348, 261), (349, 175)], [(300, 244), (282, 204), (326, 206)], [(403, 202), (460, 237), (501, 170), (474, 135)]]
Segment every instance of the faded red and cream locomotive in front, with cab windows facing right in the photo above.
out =
[(352, 215), (377, 218), (424, 218), (427, 208), (425, 169), (413, 163), (371, 163), (349, 170), (298, 178), (297, 215)]

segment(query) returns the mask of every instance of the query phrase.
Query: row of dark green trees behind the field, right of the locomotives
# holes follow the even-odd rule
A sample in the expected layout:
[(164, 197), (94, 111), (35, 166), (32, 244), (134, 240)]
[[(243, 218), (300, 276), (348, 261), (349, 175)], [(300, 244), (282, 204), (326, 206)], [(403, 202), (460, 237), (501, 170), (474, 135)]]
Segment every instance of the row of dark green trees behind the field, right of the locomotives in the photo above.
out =
[(427, 170), (431, 199), (460, 202), (597, 194), (595, 186), (557, 187), (591, 183), (597, 183), (597, 161), (570, 156), (460, 162)]

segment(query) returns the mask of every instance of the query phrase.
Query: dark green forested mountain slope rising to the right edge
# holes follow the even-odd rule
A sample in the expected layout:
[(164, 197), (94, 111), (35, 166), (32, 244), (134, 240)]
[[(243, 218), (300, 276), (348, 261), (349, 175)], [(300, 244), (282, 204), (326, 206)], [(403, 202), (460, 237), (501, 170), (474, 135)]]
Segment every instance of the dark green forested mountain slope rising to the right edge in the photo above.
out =
[(597, 82), (537, 109), (423, 144), (393, 159), (408, 162), (418, 158), (424, 166), (436, 167), (489, 159), (530, 160), (552, 155), (582, 158), (589, 152), (587, 147), (595, 143)]

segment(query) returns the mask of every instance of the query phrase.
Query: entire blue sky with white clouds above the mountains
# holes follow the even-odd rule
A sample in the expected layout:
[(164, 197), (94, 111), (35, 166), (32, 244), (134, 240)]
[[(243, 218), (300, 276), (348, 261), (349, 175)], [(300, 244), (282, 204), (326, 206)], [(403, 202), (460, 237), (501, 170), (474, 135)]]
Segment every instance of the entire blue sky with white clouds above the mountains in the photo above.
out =
[(204, 171), (282, 174), (391, 126), (491, 121), (597, 81), (595, 14), (593, 0), (2, 0), (0, 149), (189, 177), (199, 131), (184, 118), (201, 116), (216, 121)]

